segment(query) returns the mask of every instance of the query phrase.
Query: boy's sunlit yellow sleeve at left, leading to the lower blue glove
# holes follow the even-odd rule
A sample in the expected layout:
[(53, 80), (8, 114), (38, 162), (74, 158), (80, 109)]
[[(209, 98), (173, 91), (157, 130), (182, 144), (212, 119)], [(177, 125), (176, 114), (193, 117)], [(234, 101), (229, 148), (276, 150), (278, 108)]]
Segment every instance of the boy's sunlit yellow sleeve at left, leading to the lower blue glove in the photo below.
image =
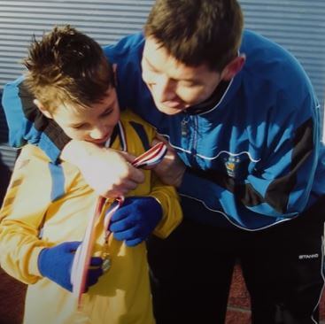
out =
[(51, 181), (48, 163), (33, 155), (36, 149), (22, 149), (0, 210), (1, 266), (27, 284), (40, 279), (37, 258), (50, 245), (38, 238), (50, 204)]

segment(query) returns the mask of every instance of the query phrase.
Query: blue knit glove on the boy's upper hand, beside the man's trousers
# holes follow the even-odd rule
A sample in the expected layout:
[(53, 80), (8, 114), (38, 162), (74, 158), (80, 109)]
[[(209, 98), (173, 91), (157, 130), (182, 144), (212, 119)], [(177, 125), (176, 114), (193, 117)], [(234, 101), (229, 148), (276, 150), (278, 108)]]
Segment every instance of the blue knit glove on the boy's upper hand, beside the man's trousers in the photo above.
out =
[(128, 197), (112, 215), (110, 231), (128, 246), (142, 243), (162, 218), (162, 208), (153, 197)]

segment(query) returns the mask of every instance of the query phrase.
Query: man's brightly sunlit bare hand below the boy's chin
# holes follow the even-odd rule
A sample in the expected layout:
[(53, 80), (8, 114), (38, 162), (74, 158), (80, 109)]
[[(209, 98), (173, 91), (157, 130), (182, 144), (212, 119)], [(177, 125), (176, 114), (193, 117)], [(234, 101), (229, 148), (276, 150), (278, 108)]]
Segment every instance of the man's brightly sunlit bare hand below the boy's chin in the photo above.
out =
[(61, 158), (78, 166), (89, 186), (103, 197), (125, 196), (144, 181), (143, 171), (131, 166), (135, 157), (120, 150), (73, 140)]

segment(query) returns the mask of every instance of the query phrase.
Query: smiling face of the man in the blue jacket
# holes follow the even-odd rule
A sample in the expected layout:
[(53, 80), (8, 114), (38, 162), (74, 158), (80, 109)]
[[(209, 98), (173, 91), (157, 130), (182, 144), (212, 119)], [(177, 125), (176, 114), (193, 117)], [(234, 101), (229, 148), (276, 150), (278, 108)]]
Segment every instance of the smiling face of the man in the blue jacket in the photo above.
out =
[(141, 65), (157, 108), (168, 115), (205, 101), (221, 82), (221, 73), (205, 65), (185, 66), (152, 37), (145, 41)]

